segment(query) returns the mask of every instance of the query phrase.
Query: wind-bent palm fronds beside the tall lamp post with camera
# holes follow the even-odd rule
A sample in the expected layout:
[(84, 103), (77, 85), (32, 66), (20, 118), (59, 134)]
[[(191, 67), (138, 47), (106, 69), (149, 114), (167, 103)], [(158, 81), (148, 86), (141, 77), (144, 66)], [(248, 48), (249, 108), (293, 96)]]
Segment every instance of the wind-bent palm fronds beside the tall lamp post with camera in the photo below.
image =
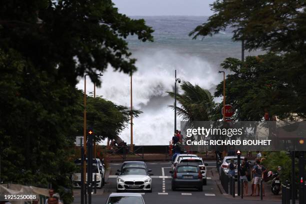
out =
[[(186, 121), (207, 121), (211, 119), (214, 111), (213, 97), (206, 89), (197, 84), (192, 85), (188, 81), (182, 81), (180, 85), (183, 94), (176, 93), (176, 100), (181, 105), (176, 111), (182, 120)], [(167, 92), (174, 97), (174, 92)], [(169, 107), (174, 108), (173, 105)]]

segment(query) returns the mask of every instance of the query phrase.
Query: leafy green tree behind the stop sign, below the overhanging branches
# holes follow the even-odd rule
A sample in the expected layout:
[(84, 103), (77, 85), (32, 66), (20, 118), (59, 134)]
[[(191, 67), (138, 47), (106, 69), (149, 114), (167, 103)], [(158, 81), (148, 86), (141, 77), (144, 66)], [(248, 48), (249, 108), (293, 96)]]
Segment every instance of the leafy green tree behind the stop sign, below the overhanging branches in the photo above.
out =
[[(303, 116), (299, 98), (302, 96), (292, 94), (295, 86), (283, 76), (283, 69), (290, 65), (275, 54), (248, 56), (244, 62), (226, 58), (221, 67), (232, 73), (225, 82), (226, 103), (236, 110), (233, 119), (261, 120), (265, 111), (280, 118), (288, 117), (291, 112)], [(221, 96), (222, 92), (223, 81), (217, 85), (214, 96)]]

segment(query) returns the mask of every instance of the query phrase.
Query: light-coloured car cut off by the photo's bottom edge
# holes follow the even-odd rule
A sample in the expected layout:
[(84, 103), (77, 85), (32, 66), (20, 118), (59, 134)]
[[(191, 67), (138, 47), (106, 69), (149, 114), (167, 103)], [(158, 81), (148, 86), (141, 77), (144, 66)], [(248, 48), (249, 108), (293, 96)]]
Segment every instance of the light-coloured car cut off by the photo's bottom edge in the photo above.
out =
[(115, 193), (108, 195), (106, 204), (144, 204), (140, 193)]

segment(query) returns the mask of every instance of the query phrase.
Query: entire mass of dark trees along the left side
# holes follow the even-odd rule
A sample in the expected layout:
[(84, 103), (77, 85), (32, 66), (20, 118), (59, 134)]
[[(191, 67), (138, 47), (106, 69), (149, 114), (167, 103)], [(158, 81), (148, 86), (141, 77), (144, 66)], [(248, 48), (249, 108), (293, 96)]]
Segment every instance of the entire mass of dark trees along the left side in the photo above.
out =
[[(118, 13), (111, 0), (3, 0), (0, 6), (1, 181), (46, 187), (72, 201), (76, 135), (83, 96), (77, 77), (107, 65), (134, 71), (125, 38), (152, 40), (143, 19)], [(87, 124), (97, 139), (113, 137), (129, 119), (126, 107), (87, 97)], [(133, 111), (134, 116), (140, 113)]]

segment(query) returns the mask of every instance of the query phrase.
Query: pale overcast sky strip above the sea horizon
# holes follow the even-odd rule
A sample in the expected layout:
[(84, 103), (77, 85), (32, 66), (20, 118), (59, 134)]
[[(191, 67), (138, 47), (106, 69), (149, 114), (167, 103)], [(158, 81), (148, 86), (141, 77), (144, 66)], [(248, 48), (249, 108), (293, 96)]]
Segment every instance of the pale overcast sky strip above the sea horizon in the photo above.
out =
[(126, 15), (211, 15), (214, 0), (112, 0)]

